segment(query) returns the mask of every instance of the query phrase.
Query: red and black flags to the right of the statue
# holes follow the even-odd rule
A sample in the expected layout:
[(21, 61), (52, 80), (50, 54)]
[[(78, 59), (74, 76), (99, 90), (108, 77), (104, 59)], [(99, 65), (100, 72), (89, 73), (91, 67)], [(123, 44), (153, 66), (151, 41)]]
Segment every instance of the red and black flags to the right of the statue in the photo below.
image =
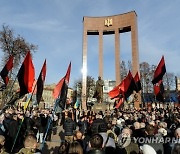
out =
[[(155, 72), (152, 83), (154, 85), (154, 93), (156, 96), (156, 100), (163, 101), (163, 76), (166, 73), (166, 66), (164, 61), (164, 56), (162, 56)], [(128, 75), (124, 80), (121, 81), (119, 85), (114, 87), (108, 94), (111, 99), (115, 99), (117, 101), (115, 108), (119, 108), (124, 100), (127, 101), (128, 97), (133, 94), (133, 91), (138, 93), (142, 89), (139, 73), (133, 77), (132, 73), (129, 71)]]

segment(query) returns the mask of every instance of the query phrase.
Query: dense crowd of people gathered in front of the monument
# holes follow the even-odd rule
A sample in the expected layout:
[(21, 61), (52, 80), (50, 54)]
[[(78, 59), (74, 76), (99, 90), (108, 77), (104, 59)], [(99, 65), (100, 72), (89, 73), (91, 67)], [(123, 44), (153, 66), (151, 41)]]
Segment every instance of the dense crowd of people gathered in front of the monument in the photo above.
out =
[[(0, 115), (0, 153), (42, 153), (53, 127), (62, 127), (59, 154), (179, 154), (180, 107), (83, 111), (49, 109)], [(48, 128), (48, 129), (47, 129)], [(18, 135), (17, 135), (18, 134)]]

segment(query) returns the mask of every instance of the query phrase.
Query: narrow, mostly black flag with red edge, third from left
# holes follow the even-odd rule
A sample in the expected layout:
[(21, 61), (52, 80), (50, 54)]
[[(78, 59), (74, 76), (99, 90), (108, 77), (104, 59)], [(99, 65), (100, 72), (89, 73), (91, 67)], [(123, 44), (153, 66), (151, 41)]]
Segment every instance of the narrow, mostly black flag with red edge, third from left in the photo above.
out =
[(43, 67), (41, 69), (41, 72), (37, 80), (37, 92), (36, 92), (37, 104), (39, 104), (39, 102), (41, 101), (45, 78), (46, 78), (46, 60), (44, 61)]

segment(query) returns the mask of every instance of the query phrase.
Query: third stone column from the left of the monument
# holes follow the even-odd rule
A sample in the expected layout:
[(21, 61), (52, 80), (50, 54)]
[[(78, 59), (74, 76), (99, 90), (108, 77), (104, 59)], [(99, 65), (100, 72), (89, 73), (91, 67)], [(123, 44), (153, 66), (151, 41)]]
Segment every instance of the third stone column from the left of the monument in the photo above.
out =
[(120, 36), (119, 30), (115, 29), (115, 71), (116, 71), (116, 85), (121, 82), (120, 76)]

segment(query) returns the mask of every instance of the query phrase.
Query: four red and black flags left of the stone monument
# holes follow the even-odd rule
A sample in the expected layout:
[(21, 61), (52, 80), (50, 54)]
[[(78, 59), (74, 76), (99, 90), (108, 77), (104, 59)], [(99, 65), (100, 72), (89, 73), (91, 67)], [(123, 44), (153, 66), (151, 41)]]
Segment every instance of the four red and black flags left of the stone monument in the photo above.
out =
[[(9, 82), (8, 74), (13, 68), (13, 59), (14, 59), (13, 56), (10, 56), (5, 66), (0, 72), (0, 76), (3, 79), (5, 86), (7, 86)], [(65, 106), (65, 100), (67, 98), (70, 72), (71, 72), (71, 63), (68, 66), (65, 76), (59, 81), (59, 83), (56, 85), (53, 91), (54, 98), (55, 99), (60, 98), (59, 101), (62, 102), (62, 104), (64, 104), (62, 105), (63, 107)], [(18, 71), (16, 78), (18, 79), (19, 87), (20, 87), (19, 98), (24, 96), (27, 93), (33, 94), (36, 90), (36, 101), (37, 101), (37, 104), (39, 104), (39, 102), (41, 101), (43, 88), (44, 88), (44, 82), (46, 78), (46, 60), (44, 61), (44, 64), (42, 66), (37, 82), (35, 82), (35, 68), (32, 62), (31, 53), (30, 51), (28, 51)]]

